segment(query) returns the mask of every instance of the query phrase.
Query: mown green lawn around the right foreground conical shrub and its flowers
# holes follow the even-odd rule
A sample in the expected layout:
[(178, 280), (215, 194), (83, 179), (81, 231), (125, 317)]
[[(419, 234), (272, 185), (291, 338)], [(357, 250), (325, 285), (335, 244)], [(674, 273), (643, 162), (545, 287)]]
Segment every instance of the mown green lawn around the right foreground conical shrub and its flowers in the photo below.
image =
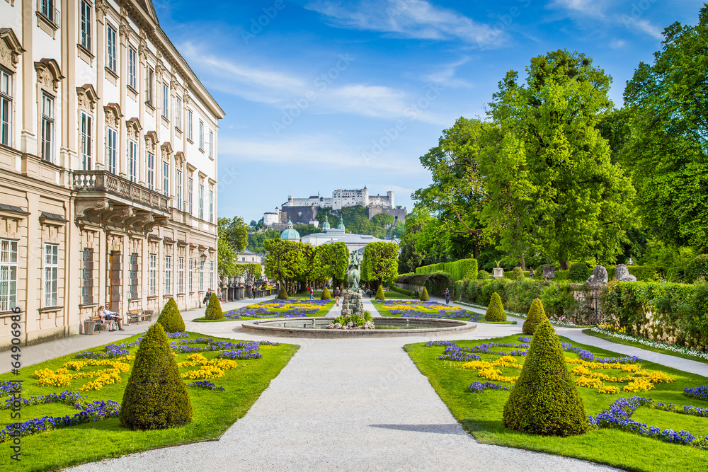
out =
[[(499, 342), (515, 341), (518, 335), (498, 338)], [(496, 340), (495, 340), (496, 341)], [(568, 339), (561, 338), (563, 342)], [(489, 340), (457, 341), (459, 345), (479, 345), (488, 343)], [(595, 355), (613, 356), (620, 355), (614, 352), (598, 349), (592, 346), (573, 343), (575, 347), (593, 352)], [(508, 430), (503, 425), (503, 406), (509, 396), (508, 391), (484, 391), (472, 393), (469, 384), (472, 381), (486, 381), (481, 379), (476, 372), (461, 369), (459, 362), (447, 362), (437, 359), (444, 347), (425, 347), (423, 343), (405, 346), (413, 362), (423, 375), (428, 377), (430, 384), (438, 392), (455, 418), (462, 424), (464, 430), (471, 433), (479, 442), (499, 444), (520, 449), (542, 451), (561, 456), (577, 457), (588, 461), (609, 464), (629, 471), (706, 471), (708, 470), (708, 451), (693, 447), (668, 444), (658, 439), (640, 437), (639, 435), (617, 430), (598, 429), (576, 437), (542, 437), (529, 434), (520, 434)], [(508, 350), (508, 349), (507, 349)], [(566, 357), (578, 357), (566, 352)], [(498, 359), (497, 355), (481, 355), (483, 360)], [(657, 384), (656, 389), (642, 393), (622, 392), (616, 395), (603, 395), (594, 389), (578, 387), (578, 391), (586, 405), (588, 415), (596, 415), (619, 397), (644, 396), (656, 401), (675, 403), (676, 405), (696, 405), (708, 407), (708, 401), (700, 401), (683, 395), (686, 387), (707, 385), (708, 379), (695, 374), (681, 372), (676, 369), (663, 367), (651, 362), (641, 362), (642, 367), (648, 370), (661, 371), (675, 379), (670, 384)], [(571, 364), (569, 364), (571, 366)], [(518, 369), (501, 369), (502, 375), (518, 376)], [(602, 371), (610, 376), (617, 371)], [(573, 377), (576, 379), (576, 377)], [(494, 382), (504, 384), (502, 382)], [(618, 385), (606, 382), (607, 385)], [(620, 388), (622, 388), (621, 384)], [(661, 413), (661, 414), (659, 414)], [(645, 422), (648, 425), (674, 430), (689, 430), (696, 436), (708, 434), (708, 418), (697, 418), (677, 413), (660, 412), (639, 408), (632, 418)], [(640, 419), (641, 418), (641, 419)], [(501, 453), (503, 454), (503, 453)]]

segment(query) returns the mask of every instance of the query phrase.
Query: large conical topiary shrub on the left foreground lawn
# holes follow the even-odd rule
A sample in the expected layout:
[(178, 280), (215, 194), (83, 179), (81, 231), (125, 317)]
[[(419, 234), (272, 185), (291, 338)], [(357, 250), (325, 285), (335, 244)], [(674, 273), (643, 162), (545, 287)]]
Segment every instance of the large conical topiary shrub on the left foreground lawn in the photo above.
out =
[(192, 403), (160, 323), (140, 342), (119, 418), (131, 430), (178, 427), (192, 419)]

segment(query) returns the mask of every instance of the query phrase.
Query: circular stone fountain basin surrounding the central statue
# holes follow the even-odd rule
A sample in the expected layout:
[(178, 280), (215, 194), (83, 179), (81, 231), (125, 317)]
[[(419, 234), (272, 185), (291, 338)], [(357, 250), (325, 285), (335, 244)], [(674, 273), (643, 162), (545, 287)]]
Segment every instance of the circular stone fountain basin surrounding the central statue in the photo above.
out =
[(244, 321), (246, 333), (290, 338), (389, 338), (432, 333), (471, 331), (477, 326), (469, 321), (438, 318), (374, 318), (373, 330), (326, 329), (334, 318), (270, 318)]

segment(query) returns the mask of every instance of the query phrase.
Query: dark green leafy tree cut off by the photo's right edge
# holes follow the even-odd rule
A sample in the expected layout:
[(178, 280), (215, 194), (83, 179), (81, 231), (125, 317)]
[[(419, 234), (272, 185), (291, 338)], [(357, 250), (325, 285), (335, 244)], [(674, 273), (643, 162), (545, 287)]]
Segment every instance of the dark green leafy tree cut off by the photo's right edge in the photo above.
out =
[(708, 6), (695, 26), (664, 31), (653, 64), (639, 64), (624, 91), (632, 172), (645, 224), (672, 246), (708, 246)]

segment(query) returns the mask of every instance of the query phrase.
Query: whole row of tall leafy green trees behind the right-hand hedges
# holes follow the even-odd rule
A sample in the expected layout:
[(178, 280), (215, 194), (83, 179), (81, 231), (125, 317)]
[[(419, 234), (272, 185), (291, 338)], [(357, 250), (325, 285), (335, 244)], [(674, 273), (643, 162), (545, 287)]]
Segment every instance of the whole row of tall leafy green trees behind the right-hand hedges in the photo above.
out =
[(666, 29), (624, 107), (611, 78), (566, 50), (499, 82), (487, 119), (460, 117), (421, 156), (433, 183), (413, 193), (401, 271), (472, 255), (507, 265), (636, 261), (651, 241), (708, 246), (708, 6)]

